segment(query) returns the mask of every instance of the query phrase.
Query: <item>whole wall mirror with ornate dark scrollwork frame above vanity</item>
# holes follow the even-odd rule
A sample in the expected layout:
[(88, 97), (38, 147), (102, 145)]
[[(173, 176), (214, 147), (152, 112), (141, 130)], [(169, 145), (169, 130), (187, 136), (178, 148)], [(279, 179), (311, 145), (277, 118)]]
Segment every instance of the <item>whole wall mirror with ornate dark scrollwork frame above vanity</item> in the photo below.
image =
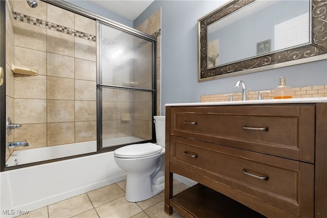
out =
[[(323, 59), (325, 7), (316, 1), (232, 1), (198, 20), (199, 81)], [(283, 63), (283, 64), (282, 64)]]

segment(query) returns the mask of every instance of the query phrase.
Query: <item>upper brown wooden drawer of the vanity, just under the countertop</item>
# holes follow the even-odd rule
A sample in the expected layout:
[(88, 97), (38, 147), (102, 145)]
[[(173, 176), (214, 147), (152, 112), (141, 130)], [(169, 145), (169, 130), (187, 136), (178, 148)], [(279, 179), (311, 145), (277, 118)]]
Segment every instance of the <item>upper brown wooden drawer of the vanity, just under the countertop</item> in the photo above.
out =
[(173, 107), (170, 134), (314, 163), (315, 107)]

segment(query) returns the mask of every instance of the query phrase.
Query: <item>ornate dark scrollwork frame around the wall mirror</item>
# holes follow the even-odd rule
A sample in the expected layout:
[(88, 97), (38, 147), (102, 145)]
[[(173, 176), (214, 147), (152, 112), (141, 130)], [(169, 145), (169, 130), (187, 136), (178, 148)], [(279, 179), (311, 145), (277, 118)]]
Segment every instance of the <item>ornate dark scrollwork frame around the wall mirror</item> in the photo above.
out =
[[(228, 2), (198, 20), (198, 81), (220, 79), (265, 69), (326, 59), (327, 54), (327, 1), (310, 0), (310, 42), (290, 49), (266, 53), (262, 56), (207, 68), (207, 27), (256, 0)], [(322, 55), (322, 56), (321, 56)]]

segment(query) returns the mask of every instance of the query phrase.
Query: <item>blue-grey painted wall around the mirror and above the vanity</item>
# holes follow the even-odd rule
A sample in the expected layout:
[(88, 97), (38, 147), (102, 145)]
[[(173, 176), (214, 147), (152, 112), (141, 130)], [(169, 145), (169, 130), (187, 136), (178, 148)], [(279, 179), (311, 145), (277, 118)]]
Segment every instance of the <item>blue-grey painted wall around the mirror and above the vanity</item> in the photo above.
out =
[(238, 80), (248, 90), (273, 89), (285, 76), (292, 87), (327, 84), (327, 60), (198, 82), (197, 20), (227, 1), (154, 1), (134, 27), (161, 7), (161, 114), (165, 104), (199, 102), (200, 95), (238, 92)]

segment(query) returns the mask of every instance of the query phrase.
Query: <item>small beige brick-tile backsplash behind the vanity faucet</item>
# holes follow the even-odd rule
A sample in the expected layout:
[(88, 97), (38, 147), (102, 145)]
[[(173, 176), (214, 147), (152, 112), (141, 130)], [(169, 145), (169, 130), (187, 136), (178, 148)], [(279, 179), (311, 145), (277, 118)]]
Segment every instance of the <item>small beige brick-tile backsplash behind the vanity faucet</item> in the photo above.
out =
[[(258, 98), (259, 91), (248, 91), (247, 99), (256, 100)], [(273, 99), (273, 90), (270, 92), (261, 93), (262, 99)], [(327, 97), (327, 85), (316, 85), (316, 86), (302, 86), (291, 88), (292, 98), (319, 98)], [(229, 101), (229, 95), (223, 94), (207, 94), (201, 95), (200, 102), (225, 102)], [(228, 93), (229, 94), (229, 93)], [(242, 100), (242, 92), (231, 93), (234, 101)]]

